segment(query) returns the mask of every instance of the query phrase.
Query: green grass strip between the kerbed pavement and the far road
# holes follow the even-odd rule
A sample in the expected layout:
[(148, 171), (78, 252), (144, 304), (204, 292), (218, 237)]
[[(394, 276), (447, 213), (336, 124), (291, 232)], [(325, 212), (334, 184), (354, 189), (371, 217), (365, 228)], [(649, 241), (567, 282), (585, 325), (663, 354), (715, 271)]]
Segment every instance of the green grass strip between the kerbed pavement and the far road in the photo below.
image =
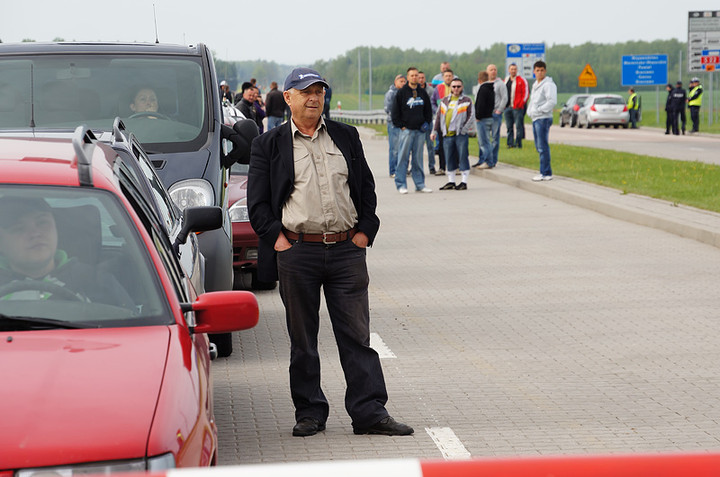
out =
[[(387, 134), (385, 125), (364, 127)], [(476, 139), (470, 139), (469, 149), (477, 157)], [(559, 176), (720, 212), (720, 166), (561, 144), (551, 144), (550, 153), (553, 173)], [(532, 141), (522, 149), (502, 149), (500, 162), (532, 170), (539, 165)]]

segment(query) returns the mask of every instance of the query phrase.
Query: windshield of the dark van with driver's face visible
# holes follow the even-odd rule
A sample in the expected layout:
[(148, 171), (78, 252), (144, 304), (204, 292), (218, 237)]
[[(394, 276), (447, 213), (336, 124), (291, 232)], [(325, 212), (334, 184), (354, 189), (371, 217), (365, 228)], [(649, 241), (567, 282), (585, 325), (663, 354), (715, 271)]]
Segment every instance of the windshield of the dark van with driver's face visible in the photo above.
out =
[(0, 59), (0, 130), (111, 131), (116, 117), (146, 149), (191, 151), (208, 134), (199, 58), (46, 55)]

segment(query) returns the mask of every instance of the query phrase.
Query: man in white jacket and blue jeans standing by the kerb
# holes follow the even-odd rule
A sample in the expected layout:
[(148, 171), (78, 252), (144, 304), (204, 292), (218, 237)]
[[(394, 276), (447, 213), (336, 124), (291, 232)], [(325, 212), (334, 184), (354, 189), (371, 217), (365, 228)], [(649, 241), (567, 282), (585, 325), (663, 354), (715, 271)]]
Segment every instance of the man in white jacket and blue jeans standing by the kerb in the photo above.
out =
[(553, 109), (557, 104), (557, 86), (552, 78), (547, 76), (547, 65), (544, 61), (536, 61), (533, 71), (535, 84), (530, 94), (528, 116), (533, 121), (535, 149), (540, 155), (540, 174), (533, 177), (533, 180), (539, 182), (552, 180), (548, 135), (552, 126)]

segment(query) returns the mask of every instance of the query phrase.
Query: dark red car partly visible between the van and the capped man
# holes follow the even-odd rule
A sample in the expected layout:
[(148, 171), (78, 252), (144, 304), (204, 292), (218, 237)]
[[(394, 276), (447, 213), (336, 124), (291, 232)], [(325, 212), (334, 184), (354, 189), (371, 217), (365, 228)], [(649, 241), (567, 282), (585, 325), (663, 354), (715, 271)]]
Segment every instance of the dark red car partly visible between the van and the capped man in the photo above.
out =
[(233, 164), (230, 168), (230, 219), (233, 223), (233, 267), (235, 287), (272, 290), (277, 282), (261, 282), (257, 278), (258, 236), (250, 225), (247, 210), (248, 165)]

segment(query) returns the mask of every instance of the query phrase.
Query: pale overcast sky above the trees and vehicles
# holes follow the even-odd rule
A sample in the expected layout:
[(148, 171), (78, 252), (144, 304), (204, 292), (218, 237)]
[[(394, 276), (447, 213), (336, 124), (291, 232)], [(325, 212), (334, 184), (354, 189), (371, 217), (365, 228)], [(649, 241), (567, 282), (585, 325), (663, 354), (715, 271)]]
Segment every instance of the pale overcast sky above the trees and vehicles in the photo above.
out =
[(687, 41), (688, 11), (720, 9), (716, 0), (0, 1), (6, 43), (154, 42), (154, 5), (163, 43), (203, 42), (222, 60), (290, 65), (331, 60), (357, 46), (463, 53), (496, 42)]

